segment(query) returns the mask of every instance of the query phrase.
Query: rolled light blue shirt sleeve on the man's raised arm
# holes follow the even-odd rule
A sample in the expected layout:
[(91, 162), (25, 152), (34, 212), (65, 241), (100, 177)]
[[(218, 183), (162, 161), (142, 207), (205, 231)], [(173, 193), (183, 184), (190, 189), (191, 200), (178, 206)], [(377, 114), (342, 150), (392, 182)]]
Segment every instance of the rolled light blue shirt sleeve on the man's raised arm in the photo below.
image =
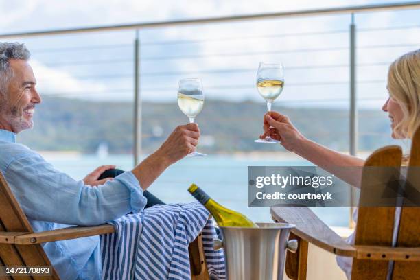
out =
[(91, 187), (59, 172), (35, 153), (12, 161), (5, 178), (23, 211), (33, 220), (93, 226), (139, 212), (147, 202), (132, 172)]

